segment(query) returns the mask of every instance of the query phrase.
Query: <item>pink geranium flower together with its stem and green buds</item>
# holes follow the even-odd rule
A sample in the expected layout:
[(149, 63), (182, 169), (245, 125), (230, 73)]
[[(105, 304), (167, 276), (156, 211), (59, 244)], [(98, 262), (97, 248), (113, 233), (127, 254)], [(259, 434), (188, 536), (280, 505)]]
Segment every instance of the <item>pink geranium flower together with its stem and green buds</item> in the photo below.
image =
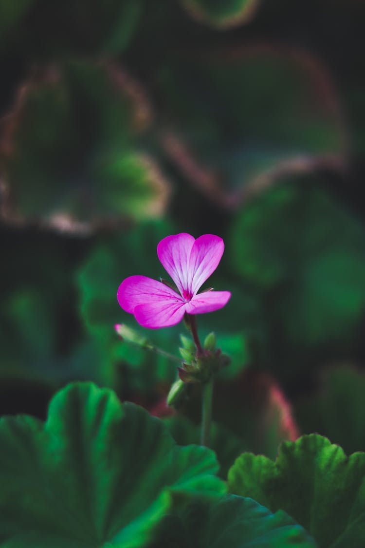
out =
[[(169, 282), (160, 282), (146, 276), (130, 276), (118, 289), (118, 302), (126, 311), (134, 314), (143, 327), (170, 327), (184, 318), (196, 347), (195, 356), (187, 350), (179, 368), (181, 381), (202, 383), (204, 386), (202, 405), (202, 444), (208, 444), (211, 427), (212, 376), (227, 365), (227, 358), (215, 350), (214, 335), (211, 334), (204, 347), (200, 343), (195, 315), (221, 309), (230, 299), (229, 291), (213, 291), (209, 288), (198, 293), (202, 284), (216, 270), (224, 251), (222, 238), (205, 234), (195, 239), (187, 233), (167, 236), (157, 246), (161, 264), (169, 273), (175, 287)], [(123, 328), (117, 326), (123, 336)], [(183, 385), (177, 381), (167, 398), (173, 404)]]

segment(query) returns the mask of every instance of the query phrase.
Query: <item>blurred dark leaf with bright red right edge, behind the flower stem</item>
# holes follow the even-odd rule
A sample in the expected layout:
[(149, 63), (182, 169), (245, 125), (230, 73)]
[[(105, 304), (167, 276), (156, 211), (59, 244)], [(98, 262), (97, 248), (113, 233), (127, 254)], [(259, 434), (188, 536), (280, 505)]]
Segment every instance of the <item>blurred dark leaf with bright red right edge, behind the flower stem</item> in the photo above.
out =
[[(179, 445), (199, 443), (199, 410), (200, 391), (195, 389), (178, 413), (165, 419)], [(250, 369), (235, 378), (217, 378), (213, 419), (211, 447), (223, 478), (243, 451), (274, 459), (282, 441), (298, 437), (291, 408), (279, 386), (269, 375)]]

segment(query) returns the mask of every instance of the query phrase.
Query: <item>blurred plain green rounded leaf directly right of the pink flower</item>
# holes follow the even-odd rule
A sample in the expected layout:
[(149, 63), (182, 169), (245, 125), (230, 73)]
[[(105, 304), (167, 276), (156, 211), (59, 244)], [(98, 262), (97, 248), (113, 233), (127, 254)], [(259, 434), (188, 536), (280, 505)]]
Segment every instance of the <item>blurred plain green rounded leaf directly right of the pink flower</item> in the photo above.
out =
[[(228, 249), (235, 270), (264, 295), (277, 370), (287, 379), (318, 357), (354, 352), (365, 231), (317, 179), (287, 181), (252, 201), (234, 221)], [(305, 353), (311, 349), (316, 357)]]

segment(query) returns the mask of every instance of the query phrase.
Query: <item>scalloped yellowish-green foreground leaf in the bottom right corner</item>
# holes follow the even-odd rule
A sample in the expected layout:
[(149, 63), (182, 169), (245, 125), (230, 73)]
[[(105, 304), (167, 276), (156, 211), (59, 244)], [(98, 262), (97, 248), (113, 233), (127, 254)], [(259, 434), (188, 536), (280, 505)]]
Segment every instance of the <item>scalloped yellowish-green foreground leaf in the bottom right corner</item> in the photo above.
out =
[(242, 454), (228, 473), (231, 493), (285, 510), (323, 548), (365, 544), (365, 453), (347, 457), (325, 437), (282, 443), (275, 463)]

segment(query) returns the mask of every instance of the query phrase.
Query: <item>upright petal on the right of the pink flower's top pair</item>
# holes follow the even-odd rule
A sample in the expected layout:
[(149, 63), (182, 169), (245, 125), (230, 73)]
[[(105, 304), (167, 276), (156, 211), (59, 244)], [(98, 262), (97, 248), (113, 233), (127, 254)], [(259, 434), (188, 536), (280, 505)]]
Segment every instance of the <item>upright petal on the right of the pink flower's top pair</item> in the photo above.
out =
[(188, 269), (189, 290), (192, 295), (198, 292), (206, 279), (216, 270), (223, 251), (224, 243), (219, 236), (204, 234), (196, 238), (190, 253)]

